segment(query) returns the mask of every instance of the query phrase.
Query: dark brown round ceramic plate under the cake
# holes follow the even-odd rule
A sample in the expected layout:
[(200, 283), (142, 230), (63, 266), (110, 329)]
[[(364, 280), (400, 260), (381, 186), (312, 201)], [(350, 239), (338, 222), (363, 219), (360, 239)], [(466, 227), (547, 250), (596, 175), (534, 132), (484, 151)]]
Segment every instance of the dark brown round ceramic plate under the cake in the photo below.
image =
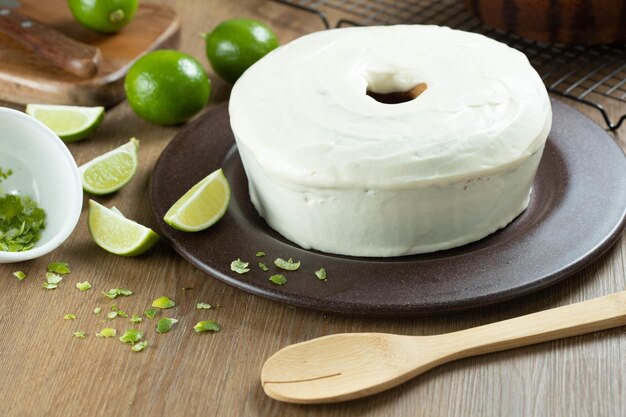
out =
[[(162, 235), (211, 276), (294, 306), (355, 315), (416, 316), (483, 306), (527, 294), (571, 275), (602, 255), (622, 233), (626, 159), (596, 124), (553, 102), (554, 125), (528, 209), (505, 229), (453, 250), (399, 258), (353, 258), (304, 250), (270, 229), (248, 198), (225, 105), (182, 130), (157, 162), (151, 202)], [(233, 197), (213, 227), (184, 233), (162, 221), (192, 185), (222, 167)], [(257, 258), (264, 251), (267, 256)], [(278, 286), (259, 261), (302, 262)], [(252, 270), (238, 275), (241, 258)], [(314, 271), (326, 268), (328, 281)]]

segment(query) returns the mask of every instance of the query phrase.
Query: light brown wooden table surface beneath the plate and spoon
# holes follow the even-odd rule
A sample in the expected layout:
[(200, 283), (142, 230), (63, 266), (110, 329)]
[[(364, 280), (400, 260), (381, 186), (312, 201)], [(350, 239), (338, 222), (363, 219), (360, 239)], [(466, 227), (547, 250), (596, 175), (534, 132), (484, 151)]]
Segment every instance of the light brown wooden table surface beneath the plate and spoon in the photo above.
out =
[[(199, 32), (235, 16), (268, 22), (282, 42), (321, 28), (315, 17), (268, 1), (172, 4), (182, 22), (180, 49), (198, 57), (213, 80), (212, 104), (227, 100), (230, 87), (210, 70)], [(579, 109), (600, 122), (595, 111)], [(80, 165), (137, 136), (136, 177), (118, 193), (96, 199), (155, 227), (148, 203), (150, 173), (179, 130), (150, 125), (123, 102), (107, 112), (92, 138), (69, 144), (69, 149)], [(626, 128), (612, 136), (623, 146)], [(428, 318), (372, 319), (296, 309), (249, 295), (200, 272), (165, 242), (140, 257), (109, 254), (92, 242), (86, 220), (85, 204), (76, 230), (58, 250), (34, 261), (0, 265), (1, 416), (626, 415), (626, 328), (461, 360), (349, 403), (284, 404), (266, 397), (259, 383), (269, 355), (313, 337), (364, 331), (436, 334), (624, 290), (624, 239), (574, 276), (503, 305)], [(41, 284), (52, 261), (69, 262), (72, 272), (58, 289), (45, 290)], [(18, 281), (12, 276), (16, 270), (29, 277)], [(84, 280), (93, 288), (80, 292), (74, 285)], [(117, 338), (96, 337), (103, 327), (118, 332), (131, 328), (125, 319), (106, 320), (112, 302), (101, 291), (115, 287), (134, 291), (115, 300), (128, 313), (142, 312), (153, 299), (169, 296), (178, 305), (167, 315), (180, 322), (164, 335), (154, 331), (155, 321), (139, 324), (149, 342), (141, 353), (131, 352)], [(198, 311), (197, 302), (221, 307)], [(93, 314), (95, 307), (103, 313)], [(66, 313), (78, 318), (64, 320)], [(194, 324), (205, 319), (219, 322), (222, 331), (195, 334)], [(87, 338), (74, 338), (76, 330), (86, 331)]]

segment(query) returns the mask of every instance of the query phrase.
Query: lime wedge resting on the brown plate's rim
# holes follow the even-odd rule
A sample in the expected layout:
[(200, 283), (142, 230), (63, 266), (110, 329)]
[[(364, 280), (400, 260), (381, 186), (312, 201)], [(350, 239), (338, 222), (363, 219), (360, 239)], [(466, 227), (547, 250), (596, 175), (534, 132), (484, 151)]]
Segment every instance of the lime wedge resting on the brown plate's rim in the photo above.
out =
[(165, 213), (163, 220), (174, 229), (198, 232), (222, 218), (230, 201), (230, 186), (218, 169), (194, 185)]

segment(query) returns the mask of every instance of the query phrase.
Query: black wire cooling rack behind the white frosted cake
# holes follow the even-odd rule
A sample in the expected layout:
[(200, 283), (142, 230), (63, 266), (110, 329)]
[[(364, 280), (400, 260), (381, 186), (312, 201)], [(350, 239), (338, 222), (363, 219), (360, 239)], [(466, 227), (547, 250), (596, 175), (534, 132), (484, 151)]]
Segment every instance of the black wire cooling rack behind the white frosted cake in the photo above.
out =
[(327, 29), (331, 28), (327, 16), (333, 14), (339, 16), (336, 27), (411, 23), (482, 33), (524, 52), (548, 91), (596, 108), (608, 129), (618, 129), (626, 119), (626, 114), (613, 115), (605, 109), (609, 102), (626, 105), (626, 45), (584, 47), (531, 41), (485, 26), (461, 0), (274, 1), (316, 14)]

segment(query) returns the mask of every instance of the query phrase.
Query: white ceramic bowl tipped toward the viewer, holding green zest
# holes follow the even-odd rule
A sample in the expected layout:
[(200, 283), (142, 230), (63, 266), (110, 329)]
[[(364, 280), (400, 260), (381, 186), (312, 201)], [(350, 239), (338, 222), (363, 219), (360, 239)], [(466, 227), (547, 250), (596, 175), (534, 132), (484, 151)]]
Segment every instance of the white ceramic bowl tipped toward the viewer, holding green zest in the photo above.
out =
[(13, 170), (0, 183), (1, 193), (19, 191), (46, 212), (36, 246), (24, 252), (0, 251), (0, 263), (26, 261), (56, 249), (76, 227), (83, 205), (78, 168), (63, 141), (32, 117), (0, 107), (0, 168)]

